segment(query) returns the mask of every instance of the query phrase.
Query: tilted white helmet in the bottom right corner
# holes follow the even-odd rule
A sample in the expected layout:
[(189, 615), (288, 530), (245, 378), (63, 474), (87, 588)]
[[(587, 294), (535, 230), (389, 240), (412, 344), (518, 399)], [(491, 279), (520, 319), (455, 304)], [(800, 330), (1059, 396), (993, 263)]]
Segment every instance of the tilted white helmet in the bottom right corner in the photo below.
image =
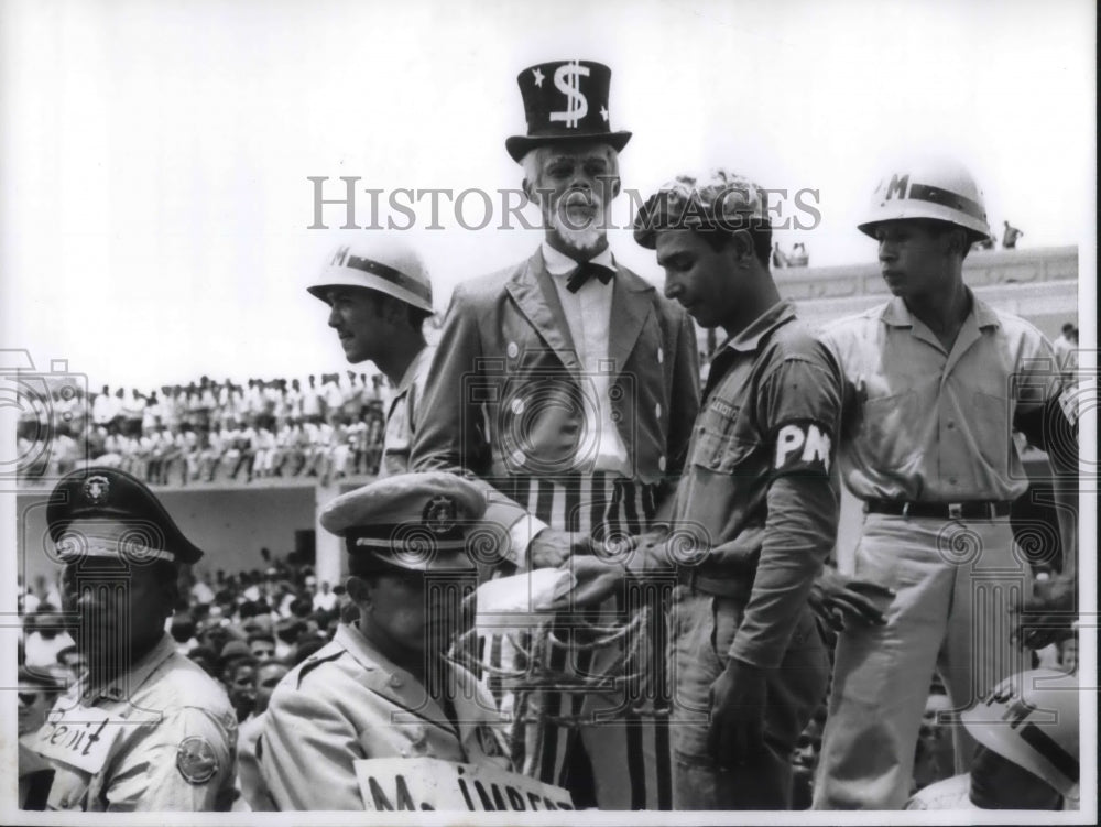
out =
[(1078, 798), (1078, 677), (1053, 670), (1005, 678), (961, 718), (986, 749)]

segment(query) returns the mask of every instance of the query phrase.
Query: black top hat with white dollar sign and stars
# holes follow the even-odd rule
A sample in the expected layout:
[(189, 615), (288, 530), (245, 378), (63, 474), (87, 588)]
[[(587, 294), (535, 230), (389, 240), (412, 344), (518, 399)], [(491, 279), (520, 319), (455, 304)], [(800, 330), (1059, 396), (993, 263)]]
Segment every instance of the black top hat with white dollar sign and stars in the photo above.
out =
[(516, 163), (531, 150), (560, 141), (600, 141), (620, 152), (631, 133), (613, 132), (608, 107), (612, 70), (592, 61), (552, 61), (516, 77), (527, 134), (504, 142)]

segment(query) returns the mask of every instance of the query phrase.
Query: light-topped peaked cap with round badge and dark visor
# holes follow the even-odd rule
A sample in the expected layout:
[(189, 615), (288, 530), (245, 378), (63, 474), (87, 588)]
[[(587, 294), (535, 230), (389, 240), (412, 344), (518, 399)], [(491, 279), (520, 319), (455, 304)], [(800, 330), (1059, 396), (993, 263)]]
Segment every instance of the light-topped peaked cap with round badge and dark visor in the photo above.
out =
[(320, 523), (344, 537), (353, 570), (426, 572), (473, 567), (467, 534), (484, 512), (486, 496), (477, 486), (428, 471), (349, 491), (321, 510)]

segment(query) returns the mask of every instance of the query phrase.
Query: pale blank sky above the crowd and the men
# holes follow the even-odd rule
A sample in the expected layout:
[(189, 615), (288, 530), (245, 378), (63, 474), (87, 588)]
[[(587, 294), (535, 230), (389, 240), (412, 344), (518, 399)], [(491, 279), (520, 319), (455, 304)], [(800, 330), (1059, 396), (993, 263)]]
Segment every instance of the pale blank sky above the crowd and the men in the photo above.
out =
[[(326, 197), (358, 177), (361, 225), (368, 188), (383, 204), (402, 187), (489, 193), (486, 229), (443, 199), (444, 229), (426, 229), (423, 200), (406, 230), (443, 311), (454, 284), (537, 244), (499, 227), (497, 191), (522, 178), (504, 139), (524, 131), (516, 75), (570, 57), (611, 66), (611, 124), (634, 133), (623, 185), (643, 195), (709, 165), (815, 191), (821, 220), (777, 240), (803, 241), (811, 265), (866, 262), (854, 225), (885, 159), (951, 154), (995, 229), (1082, 246), (1092, 282), (1094, 14), (1058, 0), (0, 3), (0, 348), (40, 370), (66, 360), (94, 389), (346, 368), (304, 285), (378, 230), (338, 229), (339, 207), (307, 229), (309, 177)], [(479, 224), (480, 196), (462, 205)], [(661, 282), (630, 232), (611, 239)]]

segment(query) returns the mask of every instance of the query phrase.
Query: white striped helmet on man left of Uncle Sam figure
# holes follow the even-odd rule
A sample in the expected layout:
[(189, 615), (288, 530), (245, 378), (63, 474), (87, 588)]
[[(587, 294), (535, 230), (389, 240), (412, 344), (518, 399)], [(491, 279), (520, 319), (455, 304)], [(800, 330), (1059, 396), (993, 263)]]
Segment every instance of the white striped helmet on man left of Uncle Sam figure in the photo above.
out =
[(329, 287), (366, 287), (432, 313), (432, 281), (416, 251), (393, 236), (341, 244), (314, 283), (310, 295), (326, 301)]

